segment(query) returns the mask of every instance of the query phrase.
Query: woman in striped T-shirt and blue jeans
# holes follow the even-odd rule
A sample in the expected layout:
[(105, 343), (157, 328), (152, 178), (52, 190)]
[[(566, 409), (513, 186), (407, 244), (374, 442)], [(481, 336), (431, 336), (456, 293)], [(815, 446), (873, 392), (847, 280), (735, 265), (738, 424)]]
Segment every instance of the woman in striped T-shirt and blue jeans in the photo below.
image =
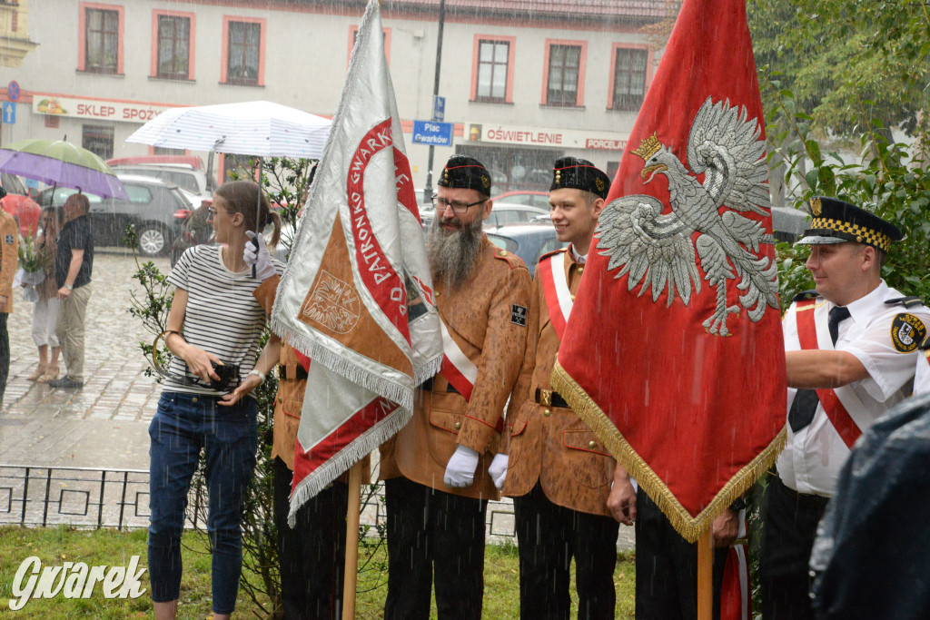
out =
[[(272, 245), (280, 236), (281, 220), (264, 194), (257, 204), (259, 186), (251, 181), (220, 186), (209, 209), (217, 244), (188, 249), (168, 277), (177, 286), (165, 335), (174, 358), (149, 429), (149, 574), (156, 618), (177, 614), (180, 535), (201, 451), (209, 496), (213, 617), (227, 618), (235, 607), (242, 573), (242, 505), (258, 449), (258, 411), (250, 392), (277, 363), (281, 345), (272, 335), (259, 354), (267, 317), (253, 293), (275, 286), (273, 276), (284, 265), (272, 260), (261, 235), (251, 232), (271, 223)], [(259, 245), (255, 277), (243, 257), (250, 238)], [(241, 382), (211, 387), (211, 380), (219, 380), (218, 364), (237, 364)]]

